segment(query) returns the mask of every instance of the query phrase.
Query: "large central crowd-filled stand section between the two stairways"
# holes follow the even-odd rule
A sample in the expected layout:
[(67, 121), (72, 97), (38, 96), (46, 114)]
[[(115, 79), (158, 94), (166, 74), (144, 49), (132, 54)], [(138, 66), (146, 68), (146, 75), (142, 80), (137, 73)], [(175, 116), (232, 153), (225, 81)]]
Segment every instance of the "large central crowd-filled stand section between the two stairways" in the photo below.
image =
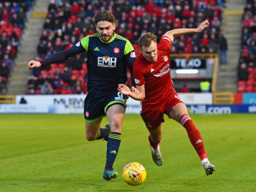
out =
[[(139, 53), (137, 39), (146, 31), (157, 35), (159, 41), (167, 30), (196, 27), (205, 19), (210, 22), (210, 27), (203, 34), (175, 38), (172, 53), (217, 53), (219, 51), (218, 38), (222, 9), (215, 0), (119, 1), (119, 4), (103, 0), (51, 1), (37, 47), (38, 60), (66, 50), (84, 36), (94, 34), (96, 31), (93, 17), (97, 11), (104, 9), (115, 15), (116, 33), (132, 42), (136, 54)], [(60, 94), (62, 88), (65, 93), (76, 93), (76, 89), (81, 87), (86, 93), (86, 60), (87, 54), (84, 53), (69, 58), (64, 63), (53, 63), (41, 70), (33, 70), (29, 79), (36, 78), (36, 81), (34, 84), (28, 83), (27, 94), (41, 93), (39, 90), (45, 81), (50, 82), (55, 94)], [(69, 72), (63, 74), (64, 70)], [(56, 82), (61, 84), (59, 87), (54, 85), (55, 81), (52, 81), (55, 78)], [(76, 85), (72, 84), (72, 78), (76, 80)]]

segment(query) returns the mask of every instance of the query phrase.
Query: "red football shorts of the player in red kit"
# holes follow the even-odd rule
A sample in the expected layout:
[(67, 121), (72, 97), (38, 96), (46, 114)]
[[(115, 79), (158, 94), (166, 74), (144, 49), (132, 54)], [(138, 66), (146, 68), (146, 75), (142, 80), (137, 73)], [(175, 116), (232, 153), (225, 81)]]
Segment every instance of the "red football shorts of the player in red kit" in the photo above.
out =
[(174, 89), (166, 98), (167, 99), (163, 99), (163, 103), (142, 106), (140, 115), (145, 122), (147, 129), (157, 129), (157, 127), (164, 122), (164, 114), (169, 117), (170, 109), (172, 109), (178, 103), (183, 103), (179, 97), (179, 94)]

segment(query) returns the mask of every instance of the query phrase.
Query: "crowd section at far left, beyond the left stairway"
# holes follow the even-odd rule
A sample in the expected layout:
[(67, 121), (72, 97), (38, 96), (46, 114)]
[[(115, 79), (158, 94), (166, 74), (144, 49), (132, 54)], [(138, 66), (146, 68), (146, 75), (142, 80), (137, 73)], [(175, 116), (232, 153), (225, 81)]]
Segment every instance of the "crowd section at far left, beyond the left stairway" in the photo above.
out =
[(6, 94), (8, 77), (16, 57), (26, 12), (33, 0), (0, 1), (0, 94)]

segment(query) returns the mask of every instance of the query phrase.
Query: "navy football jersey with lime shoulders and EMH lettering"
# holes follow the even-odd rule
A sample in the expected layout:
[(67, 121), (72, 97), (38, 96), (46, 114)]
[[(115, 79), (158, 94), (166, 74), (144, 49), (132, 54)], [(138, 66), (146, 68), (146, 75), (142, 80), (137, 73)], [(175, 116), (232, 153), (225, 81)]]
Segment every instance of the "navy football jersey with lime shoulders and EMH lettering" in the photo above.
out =
[(88, 92), (117, 91), (118, 84), (127, 81), (127, 67), (132, 72), (135, 61), (134, 48), (124, 37), (113, 34), (108, 42), (98, 34), (89, 35), (76, 44), (87, 51)]

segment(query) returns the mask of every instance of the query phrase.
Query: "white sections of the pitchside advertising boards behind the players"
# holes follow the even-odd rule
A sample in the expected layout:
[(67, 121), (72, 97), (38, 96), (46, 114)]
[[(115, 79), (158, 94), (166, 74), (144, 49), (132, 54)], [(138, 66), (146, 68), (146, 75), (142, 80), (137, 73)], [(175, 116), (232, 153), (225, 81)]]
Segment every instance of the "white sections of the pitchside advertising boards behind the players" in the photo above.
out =
[[(211, 93), (180, 93), (185, 104), (212, 104)], [(0, 104), (0, 114), (8, 113), (46, 113), (83, 114), (86, 94), (69, 95), (17, 95), (16, 104)], [(25, 103), (21, 103), (21, 100)], [(139, 114), (140, 102), (127, 100), (126, 114)]]

